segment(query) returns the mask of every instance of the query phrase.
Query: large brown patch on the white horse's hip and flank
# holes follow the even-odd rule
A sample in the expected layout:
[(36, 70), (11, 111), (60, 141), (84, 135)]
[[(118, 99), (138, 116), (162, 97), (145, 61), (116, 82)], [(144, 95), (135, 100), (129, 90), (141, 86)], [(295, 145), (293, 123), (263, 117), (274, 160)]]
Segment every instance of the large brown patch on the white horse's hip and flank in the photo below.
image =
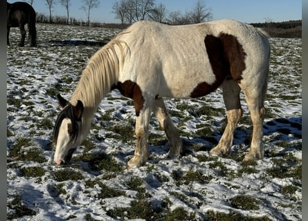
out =
[(245, 70), (246, 53), (237, 38), (233, 35), (221, 33), (218, 37), (206, 35), (204, 39), (206, 52), (213, 73), (217, 78), (231, 76), (240, 83)]

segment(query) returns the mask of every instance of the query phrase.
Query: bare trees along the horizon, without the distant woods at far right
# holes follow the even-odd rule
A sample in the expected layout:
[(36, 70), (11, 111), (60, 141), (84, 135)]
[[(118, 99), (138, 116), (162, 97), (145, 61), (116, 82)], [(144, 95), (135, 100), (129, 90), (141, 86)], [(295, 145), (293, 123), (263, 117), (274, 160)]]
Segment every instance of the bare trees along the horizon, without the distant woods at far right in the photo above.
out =
[[(24, 0), (33, 5), (34, 0)], [(37, 13), (37, 22), (48, 23), (66, 23), (66, 24), (81, 24), (87, 26), (96, 26), (99, 23), (90, 22), (91, 10), (100, 6), (100, 0), (82, 0), (81, 10), (84, 10), (87, 15), (87, 21), (78, 21), (69, 16), (72, 0), (45, 0), (49, 11), (49, 17), (42, 13)], [(55, 4), (60, 3), (66, 9), (66, 16), (53, 16), (52, 8)], [(212, 12), (210, 8), (206, 7), (203, 0), (197, 0), (192, 8), (186, 12), (169, 11), (163, 3), (156, 4), (155, 0), (117, 0), (114, 2), (112, 8), (114, 18), (118, 19), (122, 28), (131, 25), (136, 21), (152, 20), (161, 23), (188, 24), (201, 23), (203, 21), (210, 21), (212, 19)]]

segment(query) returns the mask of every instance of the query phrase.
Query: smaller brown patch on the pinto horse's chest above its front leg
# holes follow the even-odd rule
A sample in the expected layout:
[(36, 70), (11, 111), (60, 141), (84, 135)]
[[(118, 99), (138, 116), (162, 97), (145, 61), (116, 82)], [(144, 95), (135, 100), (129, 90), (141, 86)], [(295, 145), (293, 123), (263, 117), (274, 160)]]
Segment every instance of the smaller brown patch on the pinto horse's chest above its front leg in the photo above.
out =
[(117, 85), (112, 86), (111, 90), (114, 89), (118, 89), (123, 96), (134, 99), (136, 116), (138, 117), (145, 102), (145, 99), (143, 99), (143, 95), (138, 84), (133, 81), (127, 80), (123, 83), (118, 82)]

